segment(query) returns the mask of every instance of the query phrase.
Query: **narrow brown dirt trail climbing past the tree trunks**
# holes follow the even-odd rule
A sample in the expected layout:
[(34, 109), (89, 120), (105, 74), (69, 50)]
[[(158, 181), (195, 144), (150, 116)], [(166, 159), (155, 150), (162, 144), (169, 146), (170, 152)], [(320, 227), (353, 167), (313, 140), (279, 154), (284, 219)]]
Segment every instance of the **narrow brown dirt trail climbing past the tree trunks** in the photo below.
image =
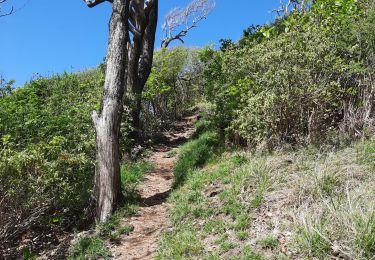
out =
[(134, 226), (130, 235), (122, 235), (120, 243), (112, 245), (114, 259), (153, 259), (162, 232), (168, 227), (168, 208), (166, 199), (173, 184), (173, 165), (177, 156), (170, 152), (194, 133), (193, 123), (197, 116), (183, 118), (175, 125), (176, 131), (166, 133), (168, 142), (154, 149), (150, 160), (154, 163), (153, 172), (145, 176), (139, 187), (141, 207), (137, 214), (124, 219), (123, 224)]

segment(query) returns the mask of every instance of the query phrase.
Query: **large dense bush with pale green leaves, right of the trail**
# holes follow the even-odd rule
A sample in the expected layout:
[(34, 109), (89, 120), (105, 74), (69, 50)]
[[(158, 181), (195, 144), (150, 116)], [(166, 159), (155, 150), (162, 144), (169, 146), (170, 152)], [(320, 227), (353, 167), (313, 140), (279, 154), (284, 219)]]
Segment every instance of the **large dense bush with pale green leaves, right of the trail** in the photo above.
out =
[(272, 148), (362, 135), (374, 112), (374, 13), (364, 1), (316, 1), (207, 48), (206, 96), (227, 140)]

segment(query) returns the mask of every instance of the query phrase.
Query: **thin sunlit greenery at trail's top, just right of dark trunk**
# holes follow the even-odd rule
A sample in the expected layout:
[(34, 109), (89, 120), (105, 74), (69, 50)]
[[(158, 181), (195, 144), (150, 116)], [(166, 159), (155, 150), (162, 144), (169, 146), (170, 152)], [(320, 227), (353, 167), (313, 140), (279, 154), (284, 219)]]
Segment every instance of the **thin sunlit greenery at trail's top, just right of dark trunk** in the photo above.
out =
[(201, 98), (201, 65), (198, 50), (161, 49), (154, 55), (151, 75), (143, 93), (145, 131), (156, 132), (179, 119)]

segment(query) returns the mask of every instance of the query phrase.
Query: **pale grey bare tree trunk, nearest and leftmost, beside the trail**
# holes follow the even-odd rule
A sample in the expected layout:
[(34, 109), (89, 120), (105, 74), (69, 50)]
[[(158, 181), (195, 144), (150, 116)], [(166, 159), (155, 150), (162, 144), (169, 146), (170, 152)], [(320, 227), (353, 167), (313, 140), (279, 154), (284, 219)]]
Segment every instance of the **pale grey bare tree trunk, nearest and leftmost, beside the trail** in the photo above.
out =
[(129, 0), (114, 0), (110, 20), (107, 68), (99, 115), (93, 112), (96, 131), (96, 220), (106, 222), (122, 199), (119, 131), (125, 91)]

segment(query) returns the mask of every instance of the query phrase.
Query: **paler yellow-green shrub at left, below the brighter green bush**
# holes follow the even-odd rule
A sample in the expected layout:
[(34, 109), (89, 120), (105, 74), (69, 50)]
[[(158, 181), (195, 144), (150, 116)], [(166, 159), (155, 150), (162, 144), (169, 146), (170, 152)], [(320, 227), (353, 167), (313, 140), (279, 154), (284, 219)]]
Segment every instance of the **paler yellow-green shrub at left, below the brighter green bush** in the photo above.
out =
[(5, 205), (0, 208), (2, 221), (14, 217), (9, 209), (16, 210), (22, 222), (40, 207), (54, 210), (56, 218), (63, 217), (64, 212), (81, 212), (88, 205), (93, 161), (84, 153), (65, 149), (64, 142), (64, 138), (55, 137), (48, 144), (31, 145), (20, 152), (12, 148), (0, 151), (0, 193)]

